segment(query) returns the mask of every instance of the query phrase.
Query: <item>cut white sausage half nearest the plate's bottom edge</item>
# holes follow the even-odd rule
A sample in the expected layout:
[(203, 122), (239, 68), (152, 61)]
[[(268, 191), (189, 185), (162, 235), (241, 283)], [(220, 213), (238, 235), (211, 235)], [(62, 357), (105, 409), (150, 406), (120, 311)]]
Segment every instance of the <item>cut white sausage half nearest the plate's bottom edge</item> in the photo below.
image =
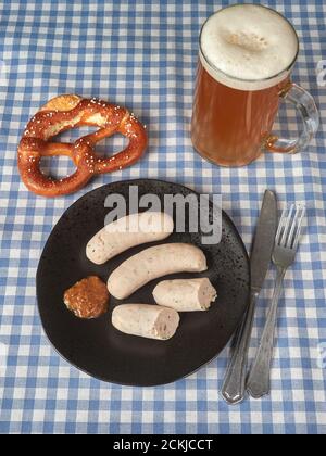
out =
[(175, 334), (179, 315), (160, 305), (122, 304), (112, 312), (112, 325), (126, 334), (167, 340)]

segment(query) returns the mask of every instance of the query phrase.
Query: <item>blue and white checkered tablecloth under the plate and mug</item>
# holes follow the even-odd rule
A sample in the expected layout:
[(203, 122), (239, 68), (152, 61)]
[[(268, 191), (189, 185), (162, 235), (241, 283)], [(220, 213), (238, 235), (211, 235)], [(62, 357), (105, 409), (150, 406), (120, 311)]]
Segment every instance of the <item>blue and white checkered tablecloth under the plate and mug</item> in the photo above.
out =
[[(189, 138), (198, 35), (204, 18), (227, 1), (5, 1), (0, 20), (0, 432), (7, 433), (325, 433), (326, 432), (326, 87), (316, 65), (326, 59), (323, 0), (268, 1), (296, 26), (301, 53), (293, 79), (311, 91), (322, 126), (306, 153), (265, 154), (243, 168), (221, 168), (193, 152)], [(148, 125), (146, 157), (97, 177), (57, 199), (21, 182), (16, 147), (32, 114), (58, 93), (110, 99)], [(293, 111), (278, 127), (294, 136)], [(67, 131), (72, 140), (80, 131)], [(117, 150), (121, 138), (105, 141)], [(45, 167), (49, 162), (45, 163)], [(66, 159), (52, 169), (64, 176)], [(228, 350), (191, 377), (160, 388), (122, 388), (79, 372), (50, 346), (40, 325), (35, 275), (61, 214), (86, 191), (121, 179), (152, 177), (222, 193), (224, 208), (250, 246), (265, 188), (280, 205), (302, 201), (309, 226), (285, 280), (269, 397), (228, 407), (220, 389)], [(273, 291), (262, 292), (251, 357)], [(324, 368), (323, 368), (324, 365)]]

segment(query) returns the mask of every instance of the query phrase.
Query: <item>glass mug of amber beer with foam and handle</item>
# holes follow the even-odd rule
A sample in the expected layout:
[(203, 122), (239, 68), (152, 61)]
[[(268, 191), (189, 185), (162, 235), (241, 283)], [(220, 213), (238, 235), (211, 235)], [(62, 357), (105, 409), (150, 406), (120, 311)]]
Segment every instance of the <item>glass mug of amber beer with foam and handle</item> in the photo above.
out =
[[(290, 80), (299, 52), (292, 25), (258, 4), (217, 11), (200, 34), (191, 140), (205, 159), (242, 166), (264, 150), (302, 151), (318, 128), (313, 98)], [(277, 138), (273, 124), (279, 100), (299, 111), (303, 130), (294, 140)]]

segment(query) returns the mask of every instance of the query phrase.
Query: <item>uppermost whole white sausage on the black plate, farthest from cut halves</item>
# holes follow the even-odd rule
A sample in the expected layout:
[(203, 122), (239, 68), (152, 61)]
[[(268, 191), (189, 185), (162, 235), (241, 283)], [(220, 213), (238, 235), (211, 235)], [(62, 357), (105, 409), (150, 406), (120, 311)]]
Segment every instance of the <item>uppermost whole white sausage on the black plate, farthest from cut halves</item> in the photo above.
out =
[(173, 219), (167, 214), (131, 214), (98, 231), (86, 246), (86, 256), (92, 263), (101, 265), (133, 246), (166, 239), (173, 229)]

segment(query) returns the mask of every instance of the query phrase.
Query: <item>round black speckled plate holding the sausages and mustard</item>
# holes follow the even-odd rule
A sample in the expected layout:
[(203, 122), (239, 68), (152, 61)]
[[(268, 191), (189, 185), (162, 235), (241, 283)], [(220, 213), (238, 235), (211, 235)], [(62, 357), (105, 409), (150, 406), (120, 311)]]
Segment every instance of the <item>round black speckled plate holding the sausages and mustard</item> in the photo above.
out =
[[(64, 291), (88, 275), (106, 281), (117, 265), (143, 249), (143, 245), (131, 249), (101, 266), (89, 262), (85, 254), (88, 240), (103, 227), (109, 212), (104, 207), (105, 197), (121, 193), (127, 198), (130, 185), (138, 186), (139, 197), (154, 193), (162, 199), (164, 194), (195, 193), (176, 183), (141, 179), (109, 183), (82, 197), (63, 214), (43, 249), (37, 270), (38, 307), (50, 342), (83, 371), (126, 385), (164, 384), (193, 372), (227, 344), (247, 308), (249, 259), (237, 229), (223, 213), (223, 237), (217, 245), (201, 245), (199, 233), (173, 233), (167, 239), (193, 243), (204, 251), (209, 271), (197, 276), (208, 276), (218, 292), (210, 311), (181, 314), (180, 326), (171, 340), (155, 341), (118, 332), (111, 325), (111, 312), (121, 302), (113, 297), (110, 312), (101, 318), (76, 318), (63, 304)], [(153, 303), (151, 293), (158, 282), (143, 287), (126, 302)]]

